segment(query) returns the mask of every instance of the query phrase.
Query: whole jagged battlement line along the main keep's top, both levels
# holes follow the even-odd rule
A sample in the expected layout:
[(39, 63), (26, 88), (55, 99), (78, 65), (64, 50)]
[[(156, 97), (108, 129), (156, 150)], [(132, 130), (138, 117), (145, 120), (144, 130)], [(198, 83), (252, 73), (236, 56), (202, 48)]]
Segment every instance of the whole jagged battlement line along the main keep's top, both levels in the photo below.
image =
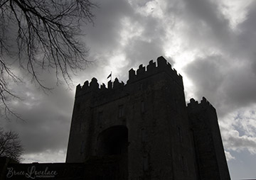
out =
[(102, 92), (110, 92), (113, 89), (124, 89), (124, 87), (129, 86), (129, 84), (132, 84), (141, 79), (145, 79), (146, 77), (151, 77), (154, 74), (159, 74), (160, 72), (166, 72), (166, 74), (169, 74), (169, 76), (172, 77), (172, 79), (174, 79), (174, 81), (176, 81), (176, 83), (183, 88), (183, 81), (181, 75), (177, 74), (176, 69), (172, 69), (171, 64), (167, 62), (164, 57), (158, 57), (156, 62), (153, 62), (153, 60), (151, 60), (146, 67), (144, 67), (143, 64), (140, 64), (139, 69), (137, 69), (136, 72), (134, 71), (134, 69), (130, 69), (127, 84), (124, 84), (123, 81), (119, 82), (119, 80), (115, 78), (114, 81), (108, 81), (106, 87), (104, 83), (100, 85), (97, 82), (97, 79), (93, 77), (90, 82), (85, 81), (82, 86), (78, 84), (78, 86), (76, 87), (75, 96), (78, 97), (91, 91), (95, 91), (101, 94)]

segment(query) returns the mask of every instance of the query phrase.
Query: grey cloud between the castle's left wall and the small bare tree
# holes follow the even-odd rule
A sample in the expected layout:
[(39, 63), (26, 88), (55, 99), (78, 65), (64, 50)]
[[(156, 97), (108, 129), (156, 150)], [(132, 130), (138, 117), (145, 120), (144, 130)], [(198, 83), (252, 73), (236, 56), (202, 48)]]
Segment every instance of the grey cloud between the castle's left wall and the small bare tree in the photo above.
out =
[[(22, 113), (21, 120), (2, 121), (6, 130), (19, 134), (25, 153), (38, 153), (46, 150), (65, 149), (73, 106), (73, 94), (57, 88), (54, 96), (26, 89), (26, 100), (14, 105), (16, 112)], [(21, 87), (20, 87), (20, 91)]]

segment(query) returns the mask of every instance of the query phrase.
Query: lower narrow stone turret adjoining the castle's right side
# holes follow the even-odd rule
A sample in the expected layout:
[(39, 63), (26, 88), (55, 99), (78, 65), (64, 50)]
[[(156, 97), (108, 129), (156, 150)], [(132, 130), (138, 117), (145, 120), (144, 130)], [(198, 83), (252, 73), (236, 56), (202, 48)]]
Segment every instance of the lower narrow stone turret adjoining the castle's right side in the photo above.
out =
[(200, 179), (230, 179), (215, 108), (205, 97), (201, 103), (191, 99), (188, 120), (193, 132)]

